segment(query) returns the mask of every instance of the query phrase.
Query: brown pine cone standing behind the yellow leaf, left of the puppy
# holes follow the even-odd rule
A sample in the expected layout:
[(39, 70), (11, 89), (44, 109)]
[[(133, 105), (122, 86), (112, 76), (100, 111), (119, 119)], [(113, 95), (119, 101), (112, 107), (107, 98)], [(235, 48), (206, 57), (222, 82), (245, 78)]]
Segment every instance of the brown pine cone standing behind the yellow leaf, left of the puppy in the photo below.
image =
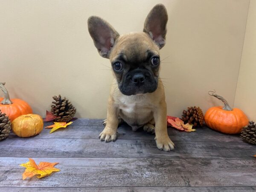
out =
[(53, 96), (52, 97), (55, 101), (52, 102), (54, 105), (52, 105), (52, 114), (56, 116), (54, 121), (56, 122), (70, 122), (71, 119), (74, 117), (76, 113), (76, 108), (72, 105), (72, 103), (64, 97), (61, 98), (61, 95), (59, 96)]

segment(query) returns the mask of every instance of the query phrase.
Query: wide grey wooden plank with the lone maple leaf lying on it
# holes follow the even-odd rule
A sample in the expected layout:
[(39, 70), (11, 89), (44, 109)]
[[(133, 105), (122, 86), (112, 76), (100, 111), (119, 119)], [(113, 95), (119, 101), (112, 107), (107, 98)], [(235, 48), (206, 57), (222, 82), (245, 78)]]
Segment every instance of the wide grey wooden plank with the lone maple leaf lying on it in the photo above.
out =
[(34, 158), (59, 162), (51, 177), (22, 180), (28, 158), (1, 157), (0, 186), (253, 186), (255, 160), (189, 160), (151, 158)]

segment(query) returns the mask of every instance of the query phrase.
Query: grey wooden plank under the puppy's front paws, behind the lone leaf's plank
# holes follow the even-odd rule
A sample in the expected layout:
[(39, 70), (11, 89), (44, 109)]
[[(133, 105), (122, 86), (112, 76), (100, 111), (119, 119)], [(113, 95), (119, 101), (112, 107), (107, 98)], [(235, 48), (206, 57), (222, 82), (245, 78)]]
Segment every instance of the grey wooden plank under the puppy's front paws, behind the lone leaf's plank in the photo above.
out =
[[(254, 159), (256, 148), (245, 143), (176, 141), (175, 151), (164, 152), (154, 140), (12, 138), (1, 142), (0, 157), (145, 157), (188, 159)], [(28, 153), (29, 151), (29, 153)]]

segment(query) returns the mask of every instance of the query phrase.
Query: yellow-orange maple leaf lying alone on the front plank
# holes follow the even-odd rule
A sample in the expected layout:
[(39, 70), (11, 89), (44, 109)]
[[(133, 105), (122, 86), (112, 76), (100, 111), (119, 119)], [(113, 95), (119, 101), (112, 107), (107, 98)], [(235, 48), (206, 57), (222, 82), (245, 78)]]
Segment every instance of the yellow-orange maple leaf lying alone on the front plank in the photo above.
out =
[(33, 159), (29, 158), (27, 163), (20, 165), (26, 167), (22, 179), (24, 180), (27, 177), (33, 177), (34, 175), (38, 175), (38, 178), (42, 178), (50, 175), (52, 172), (59, 172), (60, 169), (54, 167), (56, 164), (58, 163), (40, 162), (39, 165), (37, 165)]

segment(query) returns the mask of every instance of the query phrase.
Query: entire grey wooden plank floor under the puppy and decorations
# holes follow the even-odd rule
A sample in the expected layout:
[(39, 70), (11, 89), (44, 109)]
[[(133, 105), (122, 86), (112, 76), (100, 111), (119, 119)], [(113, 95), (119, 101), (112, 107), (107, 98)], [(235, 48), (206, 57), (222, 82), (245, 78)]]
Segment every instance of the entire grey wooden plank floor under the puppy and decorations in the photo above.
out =
[[(101, 142), (103, 128), (100, 119), (77, 119), (52, 134), (49, 129), (32, 138), (11, 134), (0, 142), (0, 191), (256, 191), (256, 145), (238, 135), (168, 128), (175, 151), (164, 152), (154, 135), (125, 124), (116, 142)], [(28, 157), (59, 162), (61, 172), (22, 180), (19, 165)]]

